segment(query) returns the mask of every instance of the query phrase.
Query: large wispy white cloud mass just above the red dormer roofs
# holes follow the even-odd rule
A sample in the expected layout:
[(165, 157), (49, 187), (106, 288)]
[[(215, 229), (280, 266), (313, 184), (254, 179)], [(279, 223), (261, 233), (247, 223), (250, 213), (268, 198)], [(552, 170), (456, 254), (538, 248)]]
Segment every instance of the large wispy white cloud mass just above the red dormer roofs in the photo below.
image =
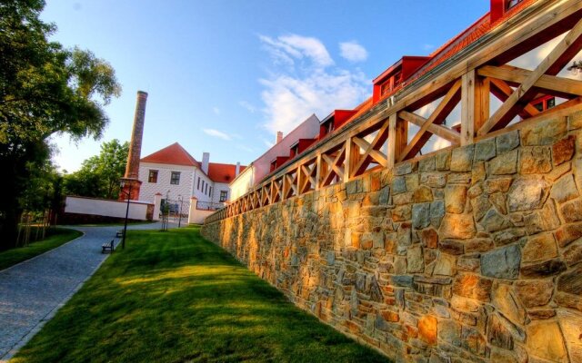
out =
[(273, 61), (267, 76), (259, 80), (264, 87), (264, 127), (273, 134), (290, 132), (312, 113), (323, 117), (335, 109), (353, 108), (370, 93), (366, 75), (337, 67), (316, 38), (286, 35), (260, 40)]

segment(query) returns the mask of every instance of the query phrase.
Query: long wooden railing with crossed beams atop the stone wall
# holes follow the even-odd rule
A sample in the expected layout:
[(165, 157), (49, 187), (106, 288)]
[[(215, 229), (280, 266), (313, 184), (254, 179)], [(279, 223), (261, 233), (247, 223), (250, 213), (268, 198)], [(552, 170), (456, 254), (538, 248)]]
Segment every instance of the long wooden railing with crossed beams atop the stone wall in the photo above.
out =
[[(254, 190), (207, 217), (206, 223), (348, 182), (366, 172), (393, 168), (397, 162), (415, 158), (433, 135), (462, 146), (570, 112), (582, 103), (582, 82), (557, 74), (582, 50), (581, 19), (578, 0), (538, 0), (326, 142), (287, 162)], [(507, 65), (565, 32), (534, 70)], [(491, 94), (501, 102), (493, 114), (489, 114)], [(530, 102), (542, 95), (566, 101), (541, 113)], [(443, 124), (459, 103), (460, 132)], [(426, 105), (435, 108), (423, 117), (418, 110)], [(517, 116), (521, 121), (507, 127)], [(419, 128), (410, 142), (409, 123)]]

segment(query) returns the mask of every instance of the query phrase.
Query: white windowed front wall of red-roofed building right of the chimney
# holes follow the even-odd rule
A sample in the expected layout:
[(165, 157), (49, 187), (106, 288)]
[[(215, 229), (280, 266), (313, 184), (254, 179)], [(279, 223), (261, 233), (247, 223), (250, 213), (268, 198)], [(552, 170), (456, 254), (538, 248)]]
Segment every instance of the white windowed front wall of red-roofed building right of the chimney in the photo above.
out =
[[(147, 182), (150, 170), (158, 171), (156, 183)], [(139, 180), (142, 182), (142, 186), (139, 191), (139, 199), (153, 203), (154, 195), (157, 192), (162, 194), (162, 198), (166, 198), (168, 191), (169, 198), (172, 200), (176, 200), (178, 195), (182, 195), (185, 199), (189, 198), (192, 195), (195, 170), (197, 169), (192, 166), (141, 162), (139, 164)], [(170, 184), (172, 172), (180, 172), (180, 183), (178, 185)]]

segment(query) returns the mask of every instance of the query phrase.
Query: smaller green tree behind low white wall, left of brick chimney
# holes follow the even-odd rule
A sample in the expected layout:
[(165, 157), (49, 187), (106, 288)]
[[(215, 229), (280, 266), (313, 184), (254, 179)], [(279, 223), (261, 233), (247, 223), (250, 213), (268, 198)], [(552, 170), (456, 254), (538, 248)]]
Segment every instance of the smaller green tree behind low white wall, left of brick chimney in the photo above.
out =
[(99, 155), (85, 160), (78, 172), (65, 176), (65, 192), (85, 197), (113, 199), (124, 176), (129, 142), (117, 139), (101, 144)]

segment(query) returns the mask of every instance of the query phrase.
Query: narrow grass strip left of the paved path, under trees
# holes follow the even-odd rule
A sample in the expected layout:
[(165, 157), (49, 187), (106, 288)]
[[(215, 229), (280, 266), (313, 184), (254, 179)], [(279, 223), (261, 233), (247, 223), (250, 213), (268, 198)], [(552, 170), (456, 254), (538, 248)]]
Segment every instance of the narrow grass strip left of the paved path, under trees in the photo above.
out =
[(75, 240), (75, 238), (81, 235), (83, 235), (82, 232), (67, 228), (50, 228), (46, 230), (45, 240), (33, 242), (26, 247), (18, 247), (0, 252), (0, 270), (14, 266), (18, 262), (32, 259), (35, 256), (45, 253), (47, 250), (53, 250), (69, 240)]

